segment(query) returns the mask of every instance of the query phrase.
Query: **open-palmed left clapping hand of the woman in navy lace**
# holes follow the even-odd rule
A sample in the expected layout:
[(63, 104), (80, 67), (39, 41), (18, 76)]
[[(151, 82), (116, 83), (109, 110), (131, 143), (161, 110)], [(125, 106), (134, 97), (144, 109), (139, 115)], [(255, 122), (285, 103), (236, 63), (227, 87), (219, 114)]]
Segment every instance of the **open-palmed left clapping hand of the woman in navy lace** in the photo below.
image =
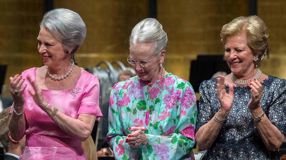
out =
[(217, 78), (217, 99), (221, 104), (221, 109), (225, 112), (229, 112), (233, 106), (233, 86), (229, 86), (229, 94), (227, 94), (224, 80), (225, 77), (222, 75), (219, 75)]

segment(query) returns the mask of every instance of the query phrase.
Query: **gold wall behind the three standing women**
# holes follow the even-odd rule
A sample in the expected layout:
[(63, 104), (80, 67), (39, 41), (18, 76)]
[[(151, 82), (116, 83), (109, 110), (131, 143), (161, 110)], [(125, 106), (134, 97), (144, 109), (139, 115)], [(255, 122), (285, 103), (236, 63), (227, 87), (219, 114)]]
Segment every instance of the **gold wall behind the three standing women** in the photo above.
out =
[[(43, 65), (36, 38), (44, 3), (0, 0), (0, 5), (0, 64), (8, 65), (5, 84), (9, 85), (10, 76)], [(136, 23), (148, 17), (148, 0), (61, 0), (54, 1), (54, 8), (76, 11), (86, 23), (86, 39), (75, 57), (78, 66), (96, 66), (102, 60), (120, 60), (129, 66), (129, 35)], [(259, 68), (280, 78), (286, 78), (285, 9), (284, 0), (257, 3), (257, 15), (270, 32), (269, 59), (265, 58)], [(166, 71), (189, 80), (190, 61), (198, 54), (224, 54), (219, 38), (221, 27), (247, 14), (248, 0), (158, 0), (157, 19), (168, 36)]]

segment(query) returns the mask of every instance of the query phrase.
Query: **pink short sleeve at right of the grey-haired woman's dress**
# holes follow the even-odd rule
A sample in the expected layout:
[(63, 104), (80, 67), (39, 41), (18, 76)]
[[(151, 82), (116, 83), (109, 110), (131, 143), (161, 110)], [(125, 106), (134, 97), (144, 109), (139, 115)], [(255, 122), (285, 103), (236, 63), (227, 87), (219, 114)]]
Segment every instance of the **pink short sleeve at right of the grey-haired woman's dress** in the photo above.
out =
[(92, 114), (96, 118), (102, 117), (99, 107), (99, 81), (96, 76), (91, 76), (84, 86), (78, 114)]

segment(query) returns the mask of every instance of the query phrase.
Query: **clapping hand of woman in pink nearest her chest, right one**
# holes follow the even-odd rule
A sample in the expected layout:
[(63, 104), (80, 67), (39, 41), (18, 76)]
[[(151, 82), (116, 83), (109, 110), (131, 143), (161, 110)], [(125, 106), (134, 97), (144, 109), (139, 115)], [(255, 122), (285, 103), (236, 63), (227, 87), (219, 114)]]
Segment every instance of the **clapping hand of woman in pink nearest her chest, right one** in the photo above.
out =
[(43, 107), (47, 104), (47, 101), (45, 100), (42, 89), (39, 88), (39, 86), (33, 80), (31, 80), (29, 76), (27, 76), (27, 78), (34, 88), (34, 91), (28, 88), (29, 94), (33, 97), (35, 103), (43, 109)]

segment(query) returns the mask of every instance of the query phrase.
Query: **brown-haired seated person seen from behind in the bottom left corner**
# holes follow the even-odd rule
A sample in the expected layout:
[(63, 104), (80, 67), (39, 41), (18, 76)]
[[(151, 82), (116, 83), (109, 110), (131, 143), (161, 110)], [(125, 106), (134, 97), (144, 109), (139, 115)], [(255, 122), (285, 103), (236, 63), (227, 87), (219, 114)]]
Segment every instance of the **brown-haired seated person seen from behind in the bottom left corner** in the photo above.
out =
[(15, 141), (10, 136), (8, 128), (11, 107), (0, 113), (0, 142), (5, 149), (4, 160), (17, 160), (25, 147), (25, 136), (20, 141)]

